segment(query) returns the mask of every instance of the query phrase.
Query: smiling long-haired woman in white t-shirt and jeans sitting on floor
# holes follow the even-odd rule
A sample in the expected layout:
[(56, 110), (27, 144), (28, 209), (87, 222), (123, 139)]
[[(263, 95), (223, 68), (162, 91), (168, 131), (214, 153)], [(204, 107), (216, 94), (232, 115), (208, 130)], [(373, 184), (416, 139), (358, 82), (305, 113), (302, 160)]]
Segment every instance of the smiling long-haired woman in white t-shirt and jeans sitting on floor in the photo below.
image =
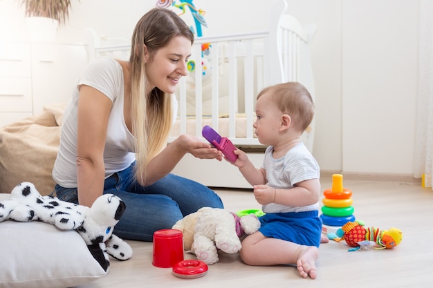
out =
[(193, 41), (174, 12), (154, 8), (133, 31), (129, 61), (93, 61), (66, 108), (55, 193), (89, 207), (102, 193), (118, 195), (127, 204), (115, 227), (121, 238), (151, 241), (154, 231), (201, 207), (223, 207), (207, 187), (170, 174), (186, 153), (222, 160), (219, 151), (190, 135), (166, 145), (171, 94), (187, 75)]

